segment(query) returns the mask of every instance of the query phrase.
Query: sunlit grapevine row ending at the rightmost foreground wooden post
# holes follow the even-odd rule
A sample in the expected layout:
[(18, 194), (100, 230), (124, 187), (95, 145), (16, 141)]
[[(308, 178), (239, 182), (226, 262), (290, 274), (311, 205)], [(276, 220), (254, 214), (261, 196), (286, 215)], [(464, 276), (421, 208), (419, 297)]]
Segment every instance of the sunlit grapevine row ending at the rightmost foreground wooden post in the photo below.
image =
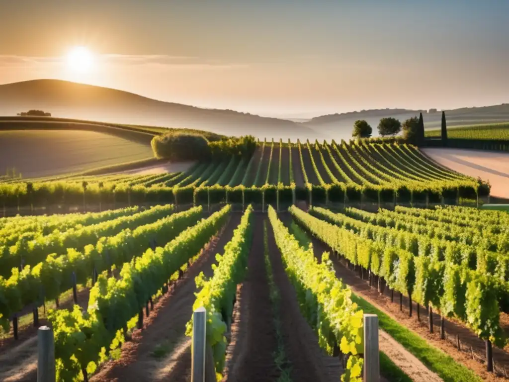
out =
[[(291, 207), (294, 208), (294, 207)], [(351, 354), (342, 381), (360, 381), (363, 348), (362, 310), (350, 299), (351, 290), (336, 278), (328, 254), (318, 263), (313, 249), (299, 245), (269, 206), (269, 220), (290, 281), (297, 291), (302, 315), (319, 336), (320, 346), (330, 355), (337, 346)], [(318, 313), (317, 313), (318, 312)], [(317, 320), (316, 315), (322, 319)]]

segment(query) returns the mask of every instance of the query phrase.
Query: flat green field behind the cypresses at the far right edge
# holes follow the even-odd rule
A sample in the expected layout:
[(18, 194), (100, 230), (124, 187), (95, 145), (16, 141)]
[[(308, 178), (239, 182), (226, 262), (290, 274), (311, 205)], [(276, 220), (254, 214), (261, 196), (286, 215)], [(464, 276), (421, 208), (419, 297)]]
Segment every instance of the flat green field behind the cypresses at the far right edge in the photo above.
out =
[[(440, 137), (440, 130), (427, 130), (426, 137)], [(447, 128), (448, 138), (509, 141), (509, 123), (463, 125)]]

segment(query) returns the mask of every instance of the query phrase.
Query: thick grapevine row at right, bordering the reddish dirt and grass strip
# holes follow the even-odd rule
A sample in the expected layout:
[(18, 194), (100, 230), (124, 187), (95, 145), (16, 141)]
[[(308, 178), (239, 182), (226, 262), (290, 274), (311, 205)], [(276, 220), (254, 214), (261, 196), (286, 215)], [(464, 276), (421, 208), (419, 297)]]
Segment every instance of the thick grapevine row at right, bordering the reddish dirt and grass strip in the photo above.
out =
[[(422, 305), (439, 308), (446, 316), (455, 316), (480, 338), (503, 347), (506, 337), (499, 323), (499, 306), (507, 310), (507, 283), (466, 264), (440, 259), (437, 253), (415, 254), (420, 243), (405, 241), (405, 236), (390, 234), (381, 227), (365, 226), (371, 231), (350, 231), (291, 207), (292, 215), (302, 226), (351, 263), (379, 275), (387, 285), (408, 295)], [(326, 210), (314, 211), (336, 223), (336, 216)], [(341, 224), (341, 221), (338, 221)], [(412, 253), (413, 252), (413, 253)], [(411, 310), (410, 310), (411, 312)]]

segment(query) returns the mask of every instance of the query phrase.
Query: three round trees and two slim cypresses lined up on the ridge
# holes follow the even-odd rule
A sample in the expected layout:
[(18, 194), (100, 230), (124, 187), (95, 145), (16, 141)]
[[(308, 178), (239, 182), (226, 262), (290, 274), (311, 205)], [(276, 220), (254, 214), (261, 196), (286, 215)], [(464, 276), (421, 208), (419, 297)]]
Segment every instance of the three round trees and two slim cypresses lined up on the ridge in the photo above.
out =
[[(401, 123), (398, 119), (387, 117), (382, 118), (377, 126), (378, 133), (382, 137), (388, 135), (399, 134), (403, 131), (403, 139), (409, 143), (417, 146), (424, 144), (424, 121), (422, 120), (422, 113), (417, 116), (409, 118)], [(352, 137), (354, 138), (371, 138), (373, 128), (365, 120), (357, 120), (353, 125)], [(447, 123), (445, 121), (445, 112), (442, 112), (442, 141), (447, 141)]]

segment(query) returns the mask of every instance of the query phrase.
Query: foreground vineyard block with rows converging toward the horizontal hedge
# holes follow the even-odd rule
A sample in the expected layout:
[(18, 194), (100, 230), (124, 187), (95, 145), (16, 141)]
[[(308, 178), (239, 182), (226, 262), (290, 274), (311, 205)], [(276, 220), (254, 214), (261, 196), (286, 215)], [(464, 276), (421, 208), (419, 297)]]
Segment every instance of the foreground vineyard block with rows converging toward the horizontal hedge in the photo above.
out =
[[(363, 313), (379, 317), (386, 380), (506, 376), (509, 214), (275, 207), (0, 219), (0, 378), (35, 380), (37, 349), (26, 344), (48, 324), (56, 380), (184, 380), (200, 307), (216, 380), (361, 380)], [(133, 357), (131, 344), (146, 353)], [(154, 362), (160, 375), (146, 371)]]

